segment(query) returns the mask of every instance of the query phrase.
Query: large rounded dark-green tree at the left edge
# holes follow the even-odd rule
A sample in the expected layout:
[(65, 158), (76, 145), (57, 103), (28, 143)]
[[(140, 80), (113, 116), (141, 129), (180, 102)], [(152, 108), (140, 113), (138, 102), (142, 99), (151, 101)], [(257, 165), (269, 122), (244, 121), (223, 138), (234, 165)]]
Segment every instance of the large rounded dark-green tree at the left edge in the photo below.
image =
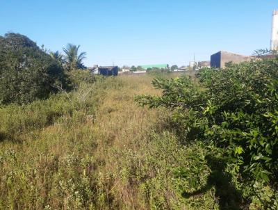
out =
[(0, 37), (0, 104), (24, 104), (65, 86), (63, 67), (18, 33)]

